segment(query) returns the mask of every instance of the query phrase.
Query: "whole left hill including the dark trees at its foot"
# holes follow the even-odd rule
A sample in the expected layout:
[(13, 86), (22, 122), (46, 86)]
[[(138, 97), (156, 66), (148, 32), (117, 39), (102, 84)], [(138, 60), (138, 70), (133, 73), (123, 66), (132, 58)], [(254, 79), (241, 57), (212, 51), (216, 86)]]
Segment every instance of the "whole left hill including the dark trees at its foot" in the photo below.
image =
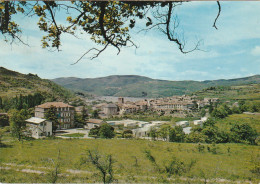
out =
[(2, 108), (5, 110), (14, 106), (18, 109), (30, 108), (43, 100), (68, 101), (75, 98), (70, 91), (50, 80), (41, 79), (37, 75), (21, 74), (0, 67), (0, 76), (0, 106), (4, 105)]

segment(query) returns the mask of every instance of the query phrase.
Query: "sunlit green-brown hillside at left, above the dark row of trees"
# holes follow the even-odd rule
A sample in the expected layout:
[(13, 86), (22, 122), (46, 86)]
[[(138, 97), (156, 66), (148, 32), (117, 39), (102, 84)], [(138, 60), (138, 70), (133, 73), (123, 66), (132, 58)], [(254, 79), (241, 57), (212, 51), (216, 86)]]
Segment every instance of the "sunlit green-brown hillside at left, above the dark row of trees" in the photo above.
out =
[(41, 79), (34, 74), (21, 74), (15, 71), (0, 67), (0, 97), (14, 97), (16, 95), (28, 95), (36, 92), (46, 98), (64, 100), (74, 97), (69, 90), (56, 83)]

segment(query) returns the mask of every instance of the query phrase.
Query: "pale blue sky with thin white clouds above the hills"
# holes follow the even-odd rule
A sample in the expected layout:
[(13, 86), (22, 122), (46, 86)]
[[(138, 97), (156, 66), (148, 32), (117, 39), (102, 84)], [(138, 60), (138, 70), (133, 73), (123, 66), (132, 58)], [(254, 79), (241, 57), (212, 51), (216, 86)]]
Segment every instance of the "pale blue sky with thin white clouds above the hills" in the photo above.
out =
[[(183, 32), (187, 46), (198, 40), (200, 49), (182, 54), (158, 30), (138, 33), (137, 24), (131, 31), (132, 40), (139, 46), (123, 48), (119, 55), (108, 48), (98, 58), (83, 58), (71, 65), (95, 44), (87, 35), (82, 39), (64, 35), (60, 52), (41, 48), (44, 35), (37, 27), (38, 18), (16, 17), (23, 30), (23, 44), (0, 40), (0, 66), (21, 73), (37, 74), (41, 78), (95, 78), (109, 75), (141, 75), (164, 80), (231, 79), (260, 74), (260, 2), (221, 2), (218, 30), (212, 27), (218, 13), (216, 2), (187, 2), (175, 10), (180, 20), (178, 31)], [(65, 22), (60, 20), (61, 23)]]

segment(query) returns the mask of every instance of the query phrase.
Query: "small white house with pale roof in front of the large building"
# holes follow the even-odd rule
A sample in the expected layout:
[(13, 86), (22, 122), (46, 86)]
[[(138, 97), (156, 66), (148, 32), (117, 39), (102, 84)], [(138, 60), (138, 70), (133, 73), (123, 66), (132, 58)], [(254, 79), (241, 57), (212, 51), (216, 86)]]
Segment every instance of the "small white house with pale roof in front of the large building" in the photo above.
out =
[(46, 119), (31, 117), (25, 120), (28, 132), (33, 138), (39, 139), (52, 135), (52, 122)]

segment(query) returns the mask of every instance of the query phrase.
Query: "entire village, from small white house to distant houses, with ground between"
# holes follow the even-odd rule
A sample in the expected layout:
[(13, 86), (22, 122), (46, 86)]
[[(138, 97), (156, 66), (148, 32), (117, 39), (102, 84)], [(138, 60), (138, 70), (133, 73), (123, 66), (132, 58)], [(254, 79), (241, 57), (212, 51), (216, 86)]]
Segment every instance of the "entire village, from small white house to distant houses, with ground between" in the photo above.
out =
[[(199, 109), (210, 104), (215, 104), (219, 101), (218, 98), (204, 98), (197, 100), (196, 96), (173, 96), (157, 99), (141, 99), (135, 102), (125, 101), (123, 97), (118, 97), (115, 103), (107, 102), (96, 103), (92, 106), (92, 112), (96, 113), (93, 117), (85, 109), (84, 106), (74, 107), (63, 102), (47, 102), (35, 107), (34, 117), (26, 120), (27, 135), (33, 138), (43, 138), (48, 136), (58, 136), (67, 138), (66, 135), (72, 133), (84, 134), (82, 138), (93, 138), (89, 136), (91, 129), (100, 127), (102, 124), (108, 124), (115, 128), (116, 132), (128, 131), (134, 138), (149, 139), (151, 129), (159, 129), (164, 124), (169, 124), (172, 127), (181, 126), (185, 134), (189, 134), (193, 126), (202, 126), (207, 117), (193, 121), (140, 121), (134, 119), (122, 118), (127, 114), (137, 112), (145, 113), (153, 112), (160, 116), (170, 115), (173, 117), (182, 117), (185, 119), (187, 115), (193, 115), (199, 112)], [(53, 123), (50, 119), (46, 119), (46, 113), (53, 109), (58, 120), (57, 130), (53, 130)], [(83, 112), (84, 111), (84, 112)], [(82, 113), (87, 114), (83, 124), (78, 126), (75, 116)], [(120, 120), (109, 120), (116, 117)], [(113, 119), (113, 118), (112, 118)]]

